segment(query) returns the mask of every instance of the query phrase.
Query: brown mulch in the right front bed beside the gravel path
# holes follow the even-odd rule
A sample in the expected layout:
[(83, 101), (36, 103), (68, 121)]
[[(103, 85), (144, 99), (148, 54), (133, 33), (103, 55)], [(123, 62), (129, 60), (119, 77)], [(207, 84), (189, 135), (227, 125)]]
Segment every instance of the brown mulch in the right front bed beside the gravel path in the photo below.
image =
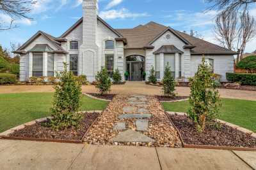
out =
[(184, 143), (188, 145), (212, 145), (233, 147), (256, 147), (256, 138), (237, 131), (228, 125), (221, 125), (220, 129), (207, 126), (205, 132), (198, 132), (195, 123), (186, 116), (170, 115), (173, 124), (179, 129)]

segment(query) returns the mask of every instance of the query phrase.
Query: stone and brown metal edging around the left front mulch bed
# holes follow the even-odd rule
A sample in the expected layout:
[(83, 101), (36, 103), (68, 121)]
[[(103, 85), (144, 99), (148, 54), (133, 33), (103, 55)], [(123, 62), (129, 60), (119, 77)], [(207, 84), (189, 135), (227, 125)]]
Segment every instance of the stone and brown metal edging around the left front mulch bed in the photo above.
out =
[[(95, 111), (79, 111), (79, 113), (100, 113), (102, 114), (102, 110), (95, 110)], [(99, 117), (100, 117), (99, 115)], [(83, 140), (88, 133), (88, 131), (91, 129), (92, 125), (96, 122), (97, 118), (93, 121), (92, 125), (87, 129), (87, 131), (84, 133), (83, 138), (80, 140), (65, 140), (65, 139), (44, 139), (44, 138), (22, 138), (22, 137), (11, 137), (10, 134), (12, 134), (14, 131), (19, 131), (20, 129), (24, 129), (26, 126), (29, 125), (34, 125), (36, 122), (44, 122), (47, 120), (47, 118), (52, 118), (52, 117), (44, 117), (44, 118), (38, 118), (36, 120), (32, 120), (30, 122), (27, 122), (22, 125), (18, 125), (16, 127), (13, 127), (12, 129), (8, 129), (7, 131), (1, 132), (0, 133), (0, 139), (12, 139), (12, 140), (24, 140), (24, 141), (42, 141), (42, 142), (56, 142), (56, 143), (83, 143)]]

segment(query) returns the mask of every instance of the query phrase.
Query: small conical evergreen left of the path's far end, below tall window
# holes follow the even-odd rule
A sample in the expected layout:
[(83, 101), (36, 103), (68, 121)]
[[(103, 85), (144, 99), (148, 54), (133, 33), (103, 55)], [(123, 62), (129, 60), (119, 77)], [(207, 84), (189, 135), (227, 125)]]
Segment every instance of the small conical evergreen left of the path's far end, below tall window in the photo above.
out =
[(101, 71), (98, 71), (96, 78), (95, 87), (99, 90), (100, 95), (106, 94), (110, 91), (111, 80), (108, 76), (108, 71), (105, 67), (102, 67)]

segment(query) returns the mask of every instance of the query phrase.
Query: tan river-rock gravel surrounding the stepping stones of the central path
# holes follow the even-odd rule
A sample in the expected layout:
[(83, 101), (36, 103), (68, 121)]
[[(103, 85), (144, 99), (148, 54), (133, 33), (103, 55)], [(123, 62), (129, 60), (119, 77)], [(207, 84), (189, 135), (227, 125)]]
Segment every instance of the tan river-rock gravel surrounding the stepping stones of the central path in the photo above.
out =
[[(140, 143), (140, 142), (127, 142), (127, 143), (114, 143), (111, 139), (118, 135), (118, 131), (114, 130), (116, 123), (120, 122), (118, 115), (123, 115), (123, 108), (125, 106), (132, 106), (128, 102), (129, 96), (116, 96), (108, 108), (97, 118), (95, 124), (92, 125), (88, 131), (84, 141), (94, 145), (140, 145), (140, 146), (166, 146), (166, 147), (181, 147), (182, 143), (179, 139), (177, 131), (170, 125), (170, 120), (165, 115), (161, 103), (156, 97), (148, 97), (148, 111), (152, 114), (149, 118), (148, 131), (142, 132), (149, 138), (155, 140), (154, 143)], [(131, 97), (130, 97), (131, 98)], [(132, 112), (136, 113), (136, 111)], [(131, 113), (131, 114), (132, 114)], [(143, 114), (143, 113), (141, 113)], [(122, 120), (124, 121), (124, 120)], [(125, 119), (127, 129), (136, 130), (136, 118)]]

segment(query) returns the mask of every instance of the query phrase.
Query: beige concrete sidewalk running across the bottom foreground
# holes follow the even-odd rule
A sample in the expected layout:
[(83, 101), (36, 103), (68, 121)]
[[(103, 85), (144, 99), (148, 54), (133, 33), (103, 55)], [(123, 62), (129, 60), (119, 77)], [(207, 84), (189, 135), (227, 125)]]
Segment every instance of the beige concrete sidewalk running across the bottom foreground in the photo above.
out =
[(256, 152), (0, 139), (0, 169), (256, 169)]

